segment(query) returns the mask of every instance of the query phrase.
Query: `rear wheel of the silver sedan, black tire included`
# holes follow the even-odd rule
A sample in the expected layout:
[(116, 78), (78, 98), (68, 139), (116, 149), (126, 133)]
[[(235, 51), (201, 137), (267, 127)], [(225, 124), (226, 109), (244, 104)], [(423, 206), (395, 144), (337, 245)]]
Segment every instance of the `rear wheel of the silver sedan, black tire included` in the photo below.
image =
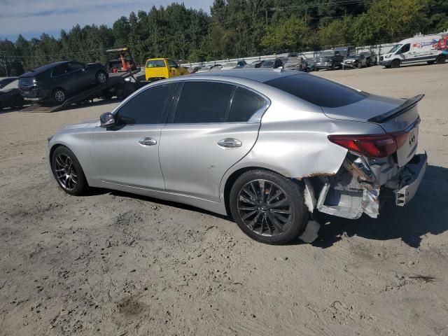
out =
[[(254, 197), (248, 199), (244, 190), (253, 190), (251, 193)], [(278, 197), (272, 198), (279, 192), (281, 194)], [(246, 198), (241, 197), (242, 195), (246, 195)], [(286, 244), (296, 239), (304, 229), (309, 215), (300, 185), (284, 176), (260, 169), (239, 176), (230, 190), (229, 205), (239, 228), (252, 239), (266, 244)], [(253, 214), (248, 216), (251, 212)], [(245, 220), (251, 221), (254, 226), (245, 223)]]

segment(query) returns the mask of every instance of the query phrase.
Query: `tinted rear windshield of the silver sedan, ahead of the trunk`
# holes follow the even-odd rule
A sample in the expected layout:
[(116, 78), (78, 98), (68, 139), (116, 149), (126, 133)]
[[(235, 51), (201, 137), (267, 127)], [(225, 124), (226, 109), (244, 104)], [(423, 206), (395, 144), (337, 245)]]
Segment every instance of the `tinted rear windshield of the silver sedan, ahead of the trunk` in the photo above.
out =
[(304, 73), (268, 80), (265, 84), (322, 107), (345, 106), (367, 97), (351, 87)]

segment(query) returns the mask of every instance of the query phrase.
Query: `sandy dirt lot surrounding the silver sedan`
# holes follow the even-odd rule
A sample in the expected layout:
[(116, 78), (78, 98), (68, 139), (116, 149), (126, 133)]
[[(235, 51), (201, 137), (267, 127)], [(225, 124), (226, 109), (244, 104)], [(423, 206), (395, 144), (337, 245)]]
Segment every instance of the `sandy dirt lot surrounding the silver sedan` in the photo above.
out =
[[(47, 137), (115, 104), (0, 113), (0, 335), (448, 335), (448, 64), (319, 71), (425, 93), (429, 166), (405, 208), (267, 246), (226, 218), (98, 190), (72, 197)], [(119, 164), (119, 163), (118, 163)]]

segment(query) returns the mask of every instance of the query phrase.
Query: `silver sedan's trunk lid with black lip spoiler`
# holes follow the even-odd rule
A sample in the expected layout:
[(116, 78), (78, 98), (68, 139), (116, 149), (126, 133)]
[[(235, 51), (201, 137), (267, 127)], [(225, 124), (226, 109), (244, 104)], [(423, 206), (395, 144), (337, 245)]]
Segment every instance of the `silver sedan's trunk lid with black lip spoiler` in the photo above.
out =
[(386, 133), (402, 134), (402, 144), (396, 152), (398, 166), (402, 167), (416, 152), (419, 137), (419, 95), (410, 99), (381, 97), (370, 94), (365, 99), (346, 106), (323, 107), (326, 116), (339, 120), (376, 123)]

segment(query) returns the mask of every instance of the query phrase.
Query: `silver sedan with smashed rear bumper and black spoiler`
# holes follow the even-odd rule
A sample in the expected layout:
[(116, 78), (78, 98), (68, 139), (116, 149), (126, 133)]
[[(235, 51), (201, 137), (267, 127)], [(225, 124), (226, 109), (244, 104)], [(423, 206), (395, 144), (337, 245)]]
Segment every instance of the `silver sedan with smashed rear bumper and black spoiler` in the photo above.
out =
[(386, 200), (412, 199), (426, 169), (426, 154), (416, 155), (421, 97), (379, 97), (297, 71), (181, 76), (64, 127), (47, 157), (71, 195), (99, 187), (190, 204), (283, 244), (318, 211), (376, 218)]

